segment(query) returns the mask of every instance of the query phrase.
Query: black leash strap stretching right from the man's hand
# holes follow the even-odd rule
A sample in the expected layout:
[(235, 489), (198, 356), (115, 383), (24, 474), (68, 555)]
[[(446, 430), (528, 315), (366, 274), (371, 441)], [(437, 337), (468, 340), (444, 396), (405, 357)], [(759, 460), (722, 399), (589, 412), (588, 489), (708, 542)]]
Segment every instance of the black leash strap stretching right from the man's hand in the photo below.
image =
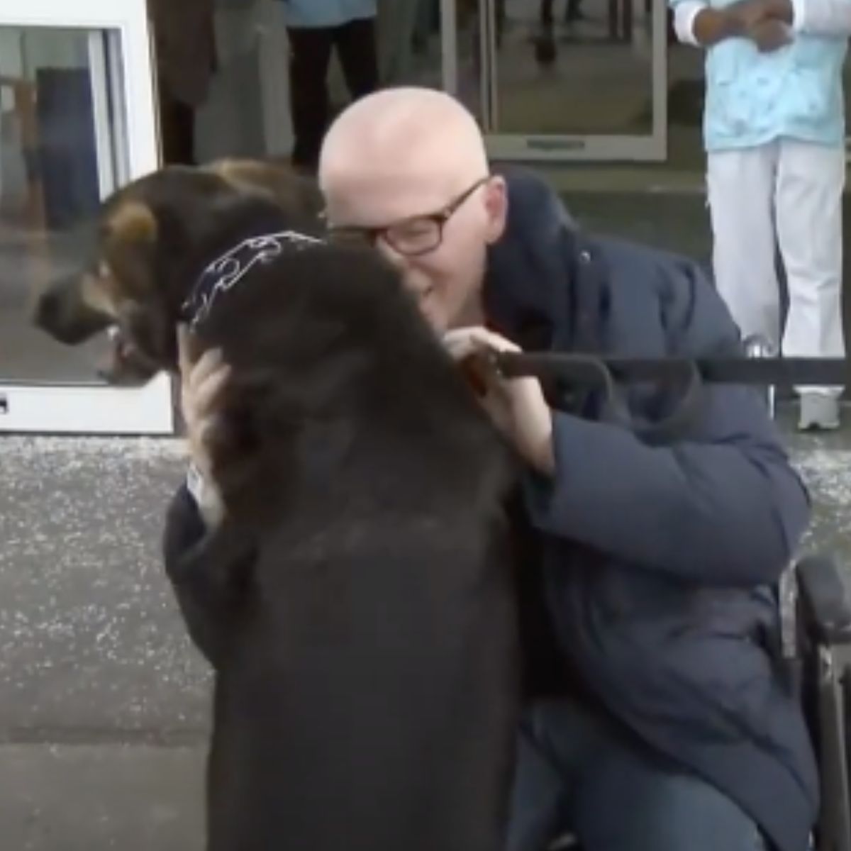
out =
[(683, 381), (694, 375), (711, 384), (760, 386), (842, 386), (848, 363), (842, 357), (603, 357), (577, 354), (494, 354), (506, 378), (534, 376), (541, 380), (599, 386), (608, 374), (617, 382)]

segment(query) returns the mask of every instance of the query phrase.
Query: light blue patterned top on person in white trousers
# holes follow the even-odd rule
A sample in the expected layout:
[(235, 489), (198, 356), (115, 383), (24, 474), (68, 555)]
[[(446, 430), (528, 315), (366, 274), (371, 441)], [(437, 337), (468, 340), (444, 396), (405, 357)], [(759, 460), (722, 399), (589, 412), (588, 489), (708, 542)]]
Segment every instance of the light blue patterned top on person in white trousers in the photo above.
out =
[[(683, 2), (671, 0), (671, 6)], [(729, 2), (707, 5), (720, 8)], [(806, 20), (796, 21), (791, 35), (793, 41), (773, 53), (760, 53), (745, 38), (728, 38), (707, 49), (707, 151), (754, 147), (783, 137), (844, 145), (847, 36), (808, 32)]]

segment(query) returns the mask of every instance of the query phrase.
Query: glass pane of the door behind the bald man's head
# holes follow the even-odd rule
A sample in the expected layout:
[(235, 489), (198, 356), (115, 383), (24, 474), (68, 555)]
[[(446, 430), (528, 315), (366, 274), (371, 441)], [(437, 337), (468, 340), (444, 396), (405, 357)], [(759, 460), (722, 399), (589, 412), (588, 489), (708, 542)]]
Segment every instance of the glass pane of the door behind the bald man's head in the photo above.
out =
[(496, 65), (490, 132), (649, 135), (652, 6), (651, 0), (478, 0), (472, 14), (459, 13), (460, 94), (469, 106), (481, 98), (477, 48), (485, 38)]

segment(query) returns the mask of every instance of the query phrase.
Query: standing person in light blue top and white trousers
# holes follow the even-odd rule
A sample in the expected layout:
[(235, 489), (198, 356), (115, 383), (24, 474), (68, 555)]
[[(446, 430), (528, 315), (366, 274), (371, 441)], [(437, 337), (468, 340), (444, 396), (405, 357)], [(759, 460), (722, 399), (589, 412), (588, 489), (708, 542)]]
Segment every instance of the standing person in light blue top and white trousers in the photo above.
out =
[[(706, 49), (704, 141), (717, 288), (745, 336), (842, 357), (842, 63), (849, 0), (671, 0)], [(776, 248), (789, 312), (780, 317)], [(839, 426), (842, 388), (797, 388), (802, 429)]]

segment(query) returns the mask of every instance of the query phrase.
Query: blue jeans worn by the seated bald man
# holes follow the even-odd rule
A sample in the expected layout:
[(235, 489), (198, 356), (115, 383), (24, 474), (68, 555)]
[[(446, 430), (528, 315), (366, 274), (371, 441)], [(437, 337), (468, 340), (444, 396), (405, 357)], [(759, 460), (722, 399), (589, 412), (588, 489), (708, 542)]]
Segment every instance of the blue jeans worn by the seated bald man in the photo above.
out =
[(683, 774), (614, 722), (567, 700), (521, 728), (508, 851), (545, 851), (566, 832), (582, 851), (764, 851), (733, 801)]

